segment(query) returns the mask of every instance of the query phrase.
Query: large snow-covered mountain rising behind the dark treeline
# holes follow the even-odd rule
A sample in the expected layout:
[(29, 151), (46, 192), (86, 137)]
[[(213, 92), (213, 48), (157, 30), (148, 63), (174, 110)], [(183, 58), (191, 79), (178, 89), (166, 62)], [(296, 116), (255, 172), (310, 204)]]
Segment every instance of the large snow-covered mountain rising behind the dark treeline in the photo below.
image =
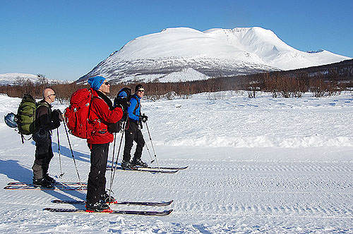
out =
[(167, 28), (133, 39), (114, 51), (90, 73), (112, 81), (202, 80), (247, 75), (268, 70), (291, 70), (350, 59), (323, 49), (299, 51), (261, 27), (211, 29)]

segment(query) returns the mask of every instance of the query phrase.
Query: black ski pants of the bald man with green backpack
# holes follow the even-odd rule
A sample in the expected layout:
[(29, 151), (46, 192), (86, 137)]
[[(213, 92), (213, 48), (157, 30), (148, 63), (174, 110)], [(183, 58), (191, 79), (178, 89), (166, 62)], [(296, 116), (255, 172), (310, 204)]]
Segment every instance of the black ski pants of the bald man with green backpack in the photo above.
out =
[(49, 163), (54, 154), (52, 149), (52, 135), (49, 131), (38, 130), (32, 135), (35, 141), (35, 162), (32, 166), (35, 180), (42, 178), (48, 173)]

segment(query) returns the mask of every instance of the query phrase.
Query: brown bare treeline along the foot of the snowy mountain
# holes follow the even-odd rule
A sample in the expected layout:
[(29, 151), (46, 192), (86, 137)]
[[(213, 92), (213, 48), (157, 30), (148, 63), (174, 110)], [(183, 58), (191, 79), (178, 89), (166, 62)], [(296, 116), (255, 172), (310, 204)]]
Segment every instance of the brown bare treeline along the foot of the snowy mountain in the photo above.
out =
[[(298, 70), (241, 75), (227, 78), (211, 78), (188, 82), (149, 82), (142, 83), (148, 99), (189, 98), (201, 92), (218, 92), (225, 90), (246, 90), (249, 97), (256, 97), (256, 92), (270, 92), (273, 97), (301, 97), (311, 92), (313, 97), (325, 97), (339, 94), (342, 90), (353, 87), (353, 60), (333, 63), (326, 66), (303, 68)], [(110, 97), (114, 98), (121, 87), (135, 87), (134, 83), (111, 85)], [(0, 93), (9, 97), (23, 97), (31, 94), (35, 98), (42, 97), (42, 90), (52, 87), (59, 101), (68, 101), (76, 90), (88, 85), (73, 83), (51, 83), (44, 75), (38, 75), (37, 82), (17, 78), (14, 85), (0, 86)]]

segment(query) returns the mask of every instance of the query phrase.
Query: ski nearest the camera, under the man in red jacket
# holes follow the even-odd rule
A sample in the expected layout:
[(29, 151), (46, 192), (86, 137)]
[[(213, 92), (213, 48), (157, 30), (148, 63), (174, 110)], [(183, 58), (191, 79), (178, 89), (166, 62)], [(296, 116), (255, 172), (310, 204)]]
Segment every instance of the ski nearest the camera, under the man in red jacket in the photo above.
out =
[(107, 212), (97, 211), (85, 211), (85, 209), (65, 209), (65, 208), (44, 208), (44, 211), (50, 212), (68, 212), (68, 213), (86, 213), (86, 214), (135, 214), (142, 216), (166, 216), (172, 213), (172, 209), (167, 211), (123, 211), (123, 210), (112, 210)]

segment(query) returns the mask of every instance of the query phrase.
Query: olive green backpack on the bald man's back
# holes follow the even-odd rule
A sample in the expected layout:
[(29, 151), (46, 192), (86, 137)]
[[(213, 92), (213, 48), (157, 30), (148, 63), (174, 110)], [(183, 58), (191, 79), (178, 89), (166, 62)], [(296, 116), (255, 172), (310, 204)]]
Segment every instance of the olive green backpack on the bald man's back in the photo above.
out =
[(35, 133), (35, 110), (39, 106), (47, 106), (46, 104), (37, 104), (35, 99), (30, 94), (24, 94), (23, 99), (20, 102), (20, 106), (18, 106), (17, 111), (17, 127), (18, 132), (22, 136), (23, 142), (23, 135), (32, 135)]

